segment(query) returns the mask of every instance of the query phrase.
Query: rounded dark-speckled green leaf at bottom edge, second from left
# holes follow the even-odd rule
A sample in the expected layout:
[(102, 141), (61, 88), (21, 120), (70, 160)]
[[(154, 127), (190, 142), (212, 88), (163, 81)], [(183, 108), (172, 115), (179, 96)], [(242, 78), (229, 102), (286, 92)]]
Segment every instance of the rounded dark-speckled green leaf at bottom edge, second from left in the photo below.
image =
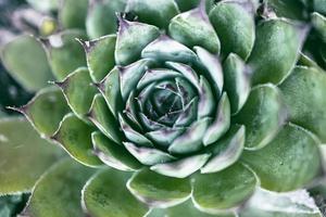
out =
[(97, 174), (84, 187), (82, 203), (93, 217), (142, 217), (149, 208), (127, 190), (129, 173), (106, 169)]

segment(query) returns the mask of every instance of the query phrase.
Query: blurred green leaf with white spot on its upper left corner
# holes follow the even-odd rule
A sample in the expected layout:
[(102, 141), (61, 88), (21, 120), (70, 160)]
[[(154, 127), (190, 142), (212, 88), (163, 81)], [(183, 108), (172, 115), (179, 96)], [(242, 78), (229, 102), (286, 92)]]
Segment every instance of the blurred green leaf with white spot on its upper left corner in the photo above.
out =
[(86, 66), (83, 47), (76, 38), (85, 39), (80, 30), (66, 30), (45, 39), (48, 60), (57, 79), (62, 80), (80, 66)]

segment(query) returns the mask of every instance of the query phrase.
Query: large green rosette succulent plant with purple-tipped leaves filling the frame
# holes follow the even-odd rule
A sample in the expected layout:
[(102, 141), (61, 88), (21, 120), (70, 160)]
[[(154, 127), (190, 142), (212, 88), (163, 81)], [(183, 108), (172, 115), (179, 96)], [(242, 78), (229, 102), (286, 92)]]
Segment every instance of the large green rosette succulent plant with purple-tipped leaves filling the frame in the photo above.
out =
[(253, 0), (37, 2), (60, 31), (1, 52), (47, 140), (0, 122), (23, 216), (322, 216), (302, 189), (324, 177), (326, 74), (298, 62), (304, 24)]

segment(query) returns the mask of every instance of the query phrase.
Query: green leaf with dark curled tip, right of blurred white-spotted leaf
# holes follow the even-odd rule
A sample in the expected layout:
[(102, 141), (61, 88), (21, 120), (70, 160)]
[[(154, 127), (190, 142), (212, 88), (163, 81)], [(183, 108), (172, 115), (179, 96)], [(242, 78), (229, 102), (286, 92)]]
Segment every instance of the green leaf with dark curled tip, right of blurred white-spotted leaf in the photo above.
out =
[(80, 41), (87, 58), (90, 77), (95, 82), (101, 81), (114, 67), (116, 36), (109, 35), (90, 41)]

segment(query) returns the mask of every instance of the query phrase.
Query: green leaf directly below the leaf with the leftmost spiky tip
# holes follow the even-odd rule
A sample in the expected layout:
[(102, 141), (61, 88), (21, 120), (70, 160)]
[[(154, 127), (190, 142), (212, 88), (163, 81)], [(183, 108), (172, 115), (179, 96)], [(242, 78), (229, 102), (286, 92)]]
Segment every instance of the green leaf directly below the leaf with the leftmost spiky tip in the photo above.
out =
[(60, 128), (51, 139), (59, 142), (76, 161), (86, 166), (97, 167), (101, 165), (101, 161), (92, 153), (92, 127), (70, 113), (64, 116), (60, 123)]

